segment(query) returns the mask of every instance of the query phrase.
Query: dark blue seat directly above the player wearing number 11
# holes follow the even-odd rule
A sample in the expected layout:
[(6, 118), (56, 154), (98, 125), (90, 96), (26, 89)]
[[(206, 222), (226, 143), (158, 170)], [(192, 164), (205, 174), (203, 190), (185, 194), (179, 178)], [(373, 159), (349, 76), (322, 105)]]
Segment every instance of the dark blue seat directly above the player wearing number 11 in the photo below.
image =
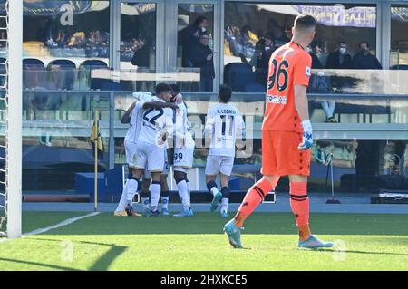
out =
[(255, 83), (255, 72), (248, 63), (229, 63), (224, 68), (224, 82), (234, 92), (245, 92), (248, 84)]

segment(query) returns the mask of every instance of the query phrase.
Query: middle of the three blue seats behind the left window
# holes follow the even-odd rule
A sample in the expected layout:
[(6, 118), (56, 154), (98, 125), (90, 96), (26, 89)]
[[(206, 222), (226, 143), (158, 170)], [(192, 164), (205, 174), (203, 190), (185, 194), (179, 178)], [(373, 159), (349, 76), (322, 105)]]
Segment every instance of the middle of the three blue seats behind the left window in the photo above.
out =
[(50, 88), (57, 90), (72, 90), (75, 82), (76, 65), (68, 59), (56, 59), (48, 63), (50, 71)]

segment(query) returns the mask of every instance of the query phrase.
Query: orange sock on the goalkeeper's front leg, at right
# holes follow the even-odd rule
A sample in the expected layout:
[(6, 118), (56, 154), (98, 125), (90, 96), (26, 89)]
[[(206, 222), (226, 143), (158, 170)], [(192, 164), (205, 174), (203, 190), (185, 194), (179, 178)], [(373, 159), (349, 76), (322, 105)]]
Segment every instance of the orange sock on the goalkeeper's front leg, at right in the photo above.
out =
[(299, 238), (304, 241), (311, 235), (309, 228), (307, 182), (290, 182), (290, 207), (296, 219)]

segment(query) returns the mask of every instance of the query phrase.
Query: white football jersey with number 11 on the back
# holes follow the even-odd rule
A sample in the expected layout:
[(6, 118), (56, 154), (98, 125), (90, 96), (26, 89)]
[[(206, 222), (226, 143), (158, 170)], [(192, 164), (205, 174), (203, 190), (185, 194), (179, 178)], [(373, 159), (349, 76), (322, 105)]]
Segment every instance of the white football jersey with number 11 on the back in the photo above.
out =
[(235, 142), (245, 134), (245, 123), (235, 106), (218, 103), (209, 108), (205, 130), (210, 155), (235, 157)]

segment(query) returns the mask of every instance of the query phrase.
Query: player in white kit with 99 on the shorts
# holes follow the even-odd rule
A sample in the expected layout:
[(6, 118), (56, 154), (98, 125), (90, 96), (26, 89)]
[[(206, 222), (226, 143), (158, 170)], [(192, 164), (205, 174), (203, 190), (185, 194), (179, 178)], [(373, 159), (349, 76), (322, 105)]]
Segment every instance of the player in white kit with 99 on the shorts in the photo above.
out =
[[(175, 84), (170, 84), (172, 89), (173, 99), (182, 99), (180, 89)], [(189, 120), (187, 119), (187, 106), (184, 102), (179, 104), (179, 110), (176, 111), (174, 125), (174, 179), (179, 191), (179, 197), (183, 205), (180, 213), (173, 215), (174, 217), (193, 217), (191, 209), (189, 180), (187, 179), (187, 171), (192, 168), (194, 160), (194, 140), (189, 132)]]

